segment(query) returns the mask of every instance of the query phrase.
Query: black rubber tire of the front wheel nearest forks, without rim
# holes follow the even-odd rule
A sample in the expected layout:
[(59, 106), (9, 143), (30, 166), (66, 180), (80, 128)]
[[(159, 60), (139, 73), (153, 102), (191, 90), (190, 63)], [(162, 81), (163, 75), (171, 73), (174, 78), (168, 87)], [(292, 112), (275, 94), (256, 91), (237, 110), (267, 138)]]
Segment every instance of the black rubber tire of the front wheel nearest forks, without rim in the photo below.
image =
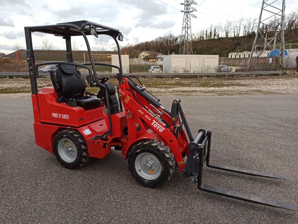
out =
[[(145, 179), (136, 171), (136, 158), (142, 153), (152, 154), (159, 160), (161, 173), (156, 179)], [(170, 148), (165, 146), (163, 142), (158, 142), (155, 139), (148, 139), (134, 146), (128, 155), (127, 162), (131, 176), (134, 177), (137, 182), (147, 187), (164, 185), (173, 176), (175, 169), (175, 159)]]

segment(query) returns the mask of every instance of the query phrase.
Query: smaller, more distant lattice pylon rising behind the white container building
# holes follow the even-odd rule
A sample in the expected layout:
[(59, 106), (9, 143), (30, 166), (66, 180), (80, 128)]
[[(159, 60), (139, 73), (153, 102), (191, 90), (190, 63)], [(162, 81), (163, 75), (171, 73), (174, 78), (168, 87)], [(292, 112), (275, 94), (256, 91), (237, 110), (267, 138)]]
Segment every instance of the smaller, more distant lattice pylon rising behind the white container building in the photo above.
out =
[(191, 0), (184, 0), (184, 11), (181, 11), (181, 12), (184, 12), (184, 16), (183, 16), (179, 54), (193, 54), (193, 46), (192, 46), (192, 40), (191, 40), (191, 26), (190, 26), (190, 16), (191, 16), (190, 13), (193, 12), (193, 10), (191, 10), (190, 5), (193, 4), (193, 2), (194, 1), (191, 1)]

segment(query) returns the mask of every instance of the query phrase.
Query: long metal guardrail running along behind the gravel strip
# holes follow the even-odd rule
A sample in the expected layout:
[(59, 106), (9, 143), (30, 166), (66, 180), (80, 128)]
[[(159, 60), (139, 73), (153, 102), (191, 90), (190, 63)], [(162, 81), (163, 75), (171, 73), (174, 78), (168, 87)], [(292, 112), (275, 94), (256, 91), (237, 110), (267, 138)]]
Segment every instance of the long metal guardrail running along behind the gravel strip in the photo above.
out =
[[(257, 74), (281, 74), (283, 71), (258, 71), (258, 72), (213, 72), (213, 73), (127, 73), (124, 74), (126, 76), (134, 75), (134, 76), (214, 76), (214, 75), (257, 75)], [(39, 76), (48, 76), (49, 73), (39, 73)], [(88, 73), (82, 73), (82, 75), (88, 75)], [(115, 76), (116, 73), (97, 73), (99, 76)], [(0, 73), (0, 76), (29, 76), (29, 73)]]

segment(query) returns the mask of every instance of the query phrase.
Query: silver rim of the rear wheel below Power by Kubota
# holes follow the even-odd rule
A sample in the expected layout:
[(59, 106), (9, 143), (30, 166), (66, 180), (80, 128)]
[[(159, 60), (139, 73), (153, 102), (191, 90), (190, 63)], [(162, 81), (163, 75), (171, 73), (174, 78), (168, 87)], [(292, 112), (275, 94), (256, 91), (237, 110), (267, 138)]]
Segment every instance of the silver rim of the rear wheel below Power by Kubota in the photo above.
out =
[(63, 138), (58, 143), (58, 153), (63, 161), (71, 163), (77, 158), (77, 147), (70, 139)]

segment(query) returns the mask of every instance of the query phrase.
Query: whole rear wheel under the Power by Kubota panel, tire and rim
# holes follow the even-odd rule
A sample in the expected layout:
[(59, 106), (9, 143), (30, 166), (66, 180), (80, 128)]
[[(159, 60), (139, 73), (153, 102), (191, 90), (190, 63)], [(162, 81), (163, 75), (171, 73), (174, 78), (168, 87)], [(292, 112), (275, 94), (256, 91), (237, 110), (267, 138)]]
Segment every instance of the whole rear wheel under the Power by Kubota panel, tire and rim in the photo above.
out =
[(59, 132), (55, 137), (53, 149), (60, 164), (69, 169), (83, 166), (90, 159), (84, 137), (74, 129)]

